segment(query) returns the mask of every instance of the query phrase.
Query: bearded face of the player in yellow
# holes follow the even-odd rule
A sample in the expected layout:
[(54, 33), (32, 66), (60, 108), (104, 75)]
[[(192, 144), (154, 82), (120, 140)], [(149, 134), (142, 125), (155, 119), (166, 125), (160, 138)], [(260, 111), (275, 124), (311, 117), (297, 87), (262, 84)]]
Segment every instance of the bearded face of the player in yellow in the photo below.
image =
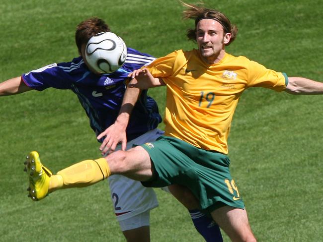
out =
[(222, 25), (213, 19), (202, 19), (196, 25), (196, 42), (203, 60), (213, 64), (225, 54), (225, 44), (229, 43), (231, 33), (224, 34)]

